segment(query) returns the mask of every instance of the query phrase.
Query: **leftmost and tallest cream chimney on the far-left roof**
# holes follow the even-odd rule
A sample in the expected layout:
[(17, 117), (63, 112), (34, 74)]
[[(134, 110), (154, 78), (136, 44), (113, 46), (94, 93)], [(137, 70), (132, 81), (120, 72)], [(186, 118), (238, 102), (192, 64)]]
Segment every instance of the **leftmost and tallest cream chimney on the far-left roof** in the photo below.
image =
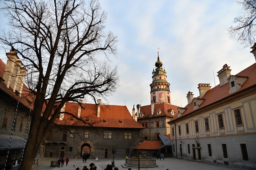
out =
[(12, 50), (10, 50), (9, 53), (6, 53), (6, 56), (8, 59), (4, 69), (4, 76), (3, 76), (3, 79), (5, 80), (4, 84), (6, 85), (7, 88), (11, 86), (11, 89), (13, 89), (14, 79), (16, 76), (14, 74), (14, 72), (16, 71), (14, 69), (14, 66), (16, 65), (15, 62), (19, 59), (19, 57), (17, 56), (16, 51), (12, 51)]

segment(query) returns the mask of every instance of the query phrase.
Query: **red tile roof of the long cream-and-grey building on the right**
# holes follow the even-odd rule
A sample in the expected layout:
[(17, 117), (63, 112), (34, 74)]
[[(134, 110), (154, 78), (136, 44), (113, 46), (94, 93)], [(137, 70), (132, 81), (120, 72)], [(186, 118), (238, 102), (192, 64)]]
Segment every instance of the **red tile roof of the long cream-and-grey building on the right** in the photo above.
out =
[[(229, 92), (228, 92), (228, 89), (230, 87), (229, 83), (227, 83), (221, 87), (219, 84), (206, 92), (206, 94), (203, 96), (203, 98), (205, 99), (204, 102), (202, 104), (200, 104), (200, 106), (196, 110), (204, 108), (205, 106), (208, 106), (214, 102), (220, 101), (228, 96), (231, 96), (231, 95), (238, 93), (244, 89), (250, 88), (253, 85), (256, 85), (256, 63), (245, 68), (243, 71), (236, 74), (236, 76), (245, 76), (245, 77), (248, 76), (247, 80), (243, 83), (242, 87), (239, 90), (229, 94)], [(200, 97), (198, 96), (196, 98), (200, 98)], [(182, 115), (180, 117), (184, 117), (184, 116), (192, 113), (193, 111), (196, 111), (196, 110), (193, 110), (193, 102), (188, 104), (187, 106), (185, 106), (185, 108), (186, 108), (186, 110), (182, 113)], [(180, 117), (178, 117), (178, 115), (175, 115), (175, 117), (173, 117), (171, 121), (176, 120)]]

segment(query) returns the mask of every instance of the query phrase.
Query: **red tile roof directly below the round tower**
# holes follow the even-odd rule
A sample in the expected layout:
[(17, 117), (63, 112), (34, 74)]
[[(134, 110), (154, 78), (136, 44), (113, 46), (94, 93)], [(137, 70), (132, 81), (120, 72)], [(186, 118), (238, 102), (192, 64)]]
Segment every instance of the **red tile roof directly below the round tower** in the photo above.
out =
[[(157, 109), (162, 110), (162, 112), (157, 115), (156, 111)], [(141, 106), (140, 112), (143, 112), (145, 115), (143, 117), (138, 117), (138, 119), (148, 118), (148, 117), (160, 117), (160, 116), (171, 116), (173, 117), (171, 113), (168, 112), (168, 110), (174, 110), (175, 113), (178, 113), (178, 106), (169, 104), (169, 103), (156, 103), (154, 104), (154, 114), (151, 115), (151, 105)]]

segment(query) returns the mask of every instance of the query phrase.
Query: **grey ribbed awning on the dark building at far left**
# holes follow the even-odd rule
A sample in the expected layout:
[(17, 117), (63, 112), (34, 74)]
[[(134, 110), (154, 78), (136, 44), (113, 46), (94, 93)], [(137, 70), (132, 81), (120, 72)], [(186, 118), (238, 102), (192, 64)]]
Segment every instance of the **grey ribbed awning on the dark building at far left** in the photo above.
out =
[[(6, 150), (10, 144), (11, 135), (0, 135), (0, 150)], [(12, 135), (10, 149), (23, 148), (25, 138)]]

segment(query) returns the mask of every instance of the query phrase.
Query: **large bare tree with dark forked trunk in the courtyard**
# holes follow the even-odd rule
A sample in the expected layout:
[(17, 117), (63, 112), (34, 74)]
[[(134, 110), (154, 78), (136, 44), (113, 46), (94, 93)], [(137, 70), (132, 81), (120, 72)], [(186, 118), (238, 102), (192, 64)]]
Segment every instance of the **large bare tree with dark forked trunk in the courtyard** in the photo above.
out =
[(0, 40), (22, 57), (36, 95), (20, 166), (27, 170), (64, 103), (96, 103), (115, 91), (118, 74), (108, 61), (116, 55), (117, 38), (104, 32), (107, 14), (97, 0), (6, 0), (3, 9), (10, 30)]

